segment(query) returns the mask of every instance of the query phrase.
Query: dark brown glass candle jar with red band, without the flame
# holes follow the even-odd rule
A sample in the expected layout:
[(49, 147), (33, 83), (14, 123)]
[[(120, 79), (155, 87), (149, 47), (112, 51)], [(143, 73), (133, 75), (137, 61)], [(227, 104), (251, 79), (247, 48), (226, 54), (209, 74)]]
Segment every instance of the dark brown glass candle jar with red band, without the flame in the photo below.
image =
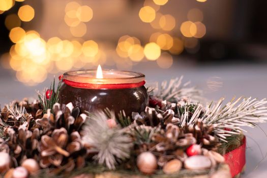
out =
[(127, 116), (140, 113), (149, 104), (143, 74), (103, 70), (103, 78), (95, 76), (96, 70), (66, 72), (60, 91), (61, 104), (72, 102), (74, 107), (88, 112), (105, 108), (115, 113), (124, 110)]

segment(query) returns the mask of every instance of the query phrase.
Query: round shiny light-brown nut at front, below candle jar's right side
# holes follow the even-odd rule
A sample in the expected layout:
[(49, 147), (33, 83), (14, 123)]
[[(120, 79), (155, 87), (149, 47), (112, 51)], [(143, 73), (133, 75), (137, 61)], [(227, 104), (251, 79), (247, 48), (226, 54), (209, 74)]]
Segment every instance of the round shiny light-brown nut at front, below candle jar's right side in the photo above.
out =
[(151, 152), (143, 152), (137, 157), (137, 167), (145, 174), (152, 174), (156, 171), (157, 158)]

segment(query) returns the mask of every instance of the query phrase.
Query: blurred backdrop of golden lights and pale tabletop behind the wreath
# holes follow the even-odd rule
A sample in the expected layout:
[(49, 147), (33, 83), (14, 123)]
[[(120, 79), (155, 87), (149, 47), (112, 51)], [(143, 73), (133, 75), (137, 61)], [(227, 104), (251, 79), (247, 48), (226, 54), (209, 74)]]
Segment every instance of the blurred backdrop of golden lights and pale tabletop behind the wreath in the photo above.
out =
[[(142, 72), (147, 83), (184, 75), (210, 100), (266, 98), (266, 7), (264, 0), (0, 0), (0, 102), (36, 97), (54, 76), (99, 64)], [(267, 136), (249, 131), (245, 177), (264, 177), (267, 144), (257, 144)]]

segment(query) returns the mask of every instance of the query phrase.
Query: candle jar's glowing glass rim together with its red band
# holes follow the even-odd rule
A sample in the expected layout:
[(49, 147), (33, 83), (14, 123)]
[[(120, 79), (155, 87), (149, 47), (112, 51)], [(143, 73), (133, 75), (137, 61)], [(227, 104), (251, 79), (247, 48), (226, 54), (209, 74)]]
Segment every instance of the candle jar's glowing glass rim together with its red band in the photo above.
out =
[[(88, 89), (123, 89), (140, 87), (145, 84), (142, 73), (119, 70), (102, 70), (104, 78), (95, 78), (96, 70), (70, 71), (63, 75), (65, 84)], [(112, 75), (123, 77), (112, 78)], [(86, 76), (89, 75), (89, 76)]]

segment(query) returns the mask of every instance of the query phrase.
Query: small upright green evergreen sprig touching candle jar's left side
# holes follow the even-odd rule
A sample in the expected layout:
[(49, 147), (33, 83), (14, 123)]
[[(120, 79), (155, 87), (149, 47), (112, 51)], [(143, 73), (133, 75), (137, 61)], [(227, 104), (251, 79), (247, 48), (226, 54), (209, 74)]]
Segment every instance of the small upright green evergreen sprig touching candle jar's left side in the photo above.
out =
[[(58, 95), (60, 93), (60, 88), (62, 85), (62, 80), (58, 82), (57, 88), (55, 90), (55, 78), (50, 85), (50, 88), (44, 88), (43, 93), (38, 93), (38, 98), (40, 100), (41, 105), (44, 107), (44, 113), (47, 113), (47, 110), (50, 109), (50, 112), (53, 113), (53, 105), (59, 101)], [(51, 92), (50, 98), (46, 98), (46, 91), (49, 90)]]

